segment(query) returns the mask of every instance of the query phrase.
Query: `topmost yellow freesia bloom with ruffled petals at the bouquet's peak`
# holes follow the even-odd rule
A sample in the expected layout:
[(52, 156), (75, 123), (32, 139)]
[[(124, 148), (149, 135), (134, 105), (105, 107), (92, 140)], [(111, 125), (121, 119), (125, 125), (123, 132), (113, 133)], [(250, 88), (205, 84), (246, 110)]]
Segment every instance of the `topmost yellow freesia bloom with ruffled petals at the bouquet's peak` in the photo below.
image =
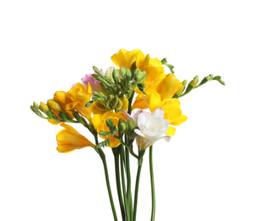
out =
[(125, 66), (128, 69), (134, 65), (140, 71), (146, 72), (145, 83), (156, 81), (164, 72), (162, 62), (159, 59), (151, 59), (150, 55), (144, 55), (139, 49), (127, 51), (120, 49), (117, 54), (111, 56), (111, 60), (118, 67)]

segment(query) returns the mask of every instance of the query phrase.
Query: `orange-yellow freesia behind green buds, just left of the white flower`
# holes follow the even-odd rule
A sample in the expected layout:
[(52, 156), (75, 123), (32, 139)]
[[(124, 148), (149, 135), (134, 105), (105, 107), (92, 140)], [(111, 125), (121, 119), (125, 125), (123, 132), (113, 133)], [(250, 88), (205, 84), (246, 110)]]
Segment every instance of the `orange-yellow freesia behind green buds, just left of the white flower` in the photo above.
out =
[[(106, 126), (106, 120), (108, 118), (112, 120), (112, 122), (114, 123), (114, 126), (117, 126), (119, 119), (122, 118), (123, 120), (125, 120), (126, 116), (122, 111), (117, 113), (113, 111), (107, 111), (103, 115), (101, 114), (94, 115), (92, 122), (97, 133), (100, 133), (100, 131), (110, 132), (109, 127)], [(116, 136), (118, 136), (118, 132), (116, 133)], [(103, 139), (107, 139), (107, 136), (100, 136), (100, 137)], [(111, 141), (110, 147), (117, 147), (120, 144), (118, 139), (115, 139), (112, 136), (110, 136), (110, 141)]]

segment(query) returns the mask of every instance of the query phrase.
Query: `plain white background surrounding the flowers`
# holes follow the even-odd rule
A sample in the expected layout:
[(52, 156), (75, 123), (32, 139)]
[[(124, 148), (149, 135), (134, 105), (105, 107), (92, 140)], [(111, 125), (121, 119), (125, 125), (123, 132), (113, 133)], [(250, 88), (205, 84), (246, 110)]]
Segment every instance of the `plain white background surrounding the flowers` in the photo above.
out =
[[(180, 81), (213, 74), (226, 83), (180, 99), (188, 121), (170, 143), (156, 143), (156, 221), (255, 221), (253, 2), (1, 1), (0, 220), (112, 220), (100, 157), (92, 148), (58, 153), (60, 126), (30, 105), (69, 90), (93, 65), (113, 65), (120, 48), (139, 48), (168, 58)], [(150, 214), (147, 151), (137, 220)]]

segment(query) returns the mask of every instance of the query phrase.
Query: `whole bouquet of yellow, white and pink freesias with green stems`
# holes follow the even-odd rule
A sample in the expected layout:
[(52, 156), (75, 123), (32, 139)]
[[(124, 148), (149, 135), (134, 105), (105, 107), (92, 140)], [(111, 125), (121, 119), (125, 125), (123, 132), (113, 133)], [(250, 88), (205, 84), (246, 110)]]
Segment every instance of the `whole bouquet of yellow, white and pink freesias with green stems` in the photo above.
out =
[[(36, 102), (31, 110), (52, 124), (64, 127), (57, 133), (57, 150), (68, 153), (90, 146), (99, 154), (111, 202), (113, 217), (117, 212), (111, 194), (104, 148), (111, 147), (115, 160), (116, 185), (122, 220), (136, 220), (139, 193), (139, 176), (145, 150), (149, 148), (151, 172), (151, 220), (155, 220), (156, 201), (152, 164), (153, 144), (159, 139), (169, 141), (175, 127), (187, 120), (182, 115), (179, 98), (202, 84), (221, 77), (209, 75), (201, 82), (180, 82), (174, 76), (174, 66), (167, 59), (151, 59), (139, 50), (121, 49), (111, 57), (118, 68), (106, 71), (94, 68), (94, 74), (82, 78), (68, 91), (57, 91), (47, 104)], [(164, 71), (164, 66), (170, 70)], [(67, 123), (81, 123), (93, 140), (88, 140)], [(100, 140), (99, 140), (100, 137)], [(134, 140), (137, 147), (135, 148)], [(131, 190), (130, 157), (138, 160), (134, 195)]]

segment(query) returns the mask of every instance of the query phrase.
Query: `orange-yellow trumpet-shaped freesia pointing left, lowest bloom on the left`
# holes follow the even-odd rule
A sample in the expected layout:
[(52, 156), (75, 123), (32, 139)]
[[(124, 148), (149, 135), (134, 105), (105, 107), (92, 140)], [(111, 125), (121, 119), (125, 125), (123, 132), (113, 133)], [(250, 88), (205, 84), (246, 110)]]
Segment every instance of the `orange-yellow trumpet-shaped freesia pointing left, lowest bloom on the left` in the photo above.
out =
[(57, 133), (56, 136), (58, 144), (57, 150), (60, 153), (68, 153), (86, 146), (94, 146), (87, 138), (78, 133), (74, 127), (65, 123), (61, 123), (60, 126), (65, 127), (65, 129)]

